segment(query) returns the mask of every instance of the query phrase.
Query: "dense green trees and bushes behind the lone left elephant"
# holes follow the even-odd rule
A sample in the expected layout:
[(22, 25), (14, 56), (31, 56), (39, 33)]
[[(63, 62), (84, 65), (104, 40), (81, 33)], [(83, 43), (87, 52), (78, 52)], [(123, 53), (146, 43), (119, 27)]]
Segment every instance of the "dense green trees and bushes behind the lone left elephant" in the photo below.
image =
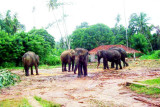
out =
[(7, 11), (5, 18), (0, 17), (1, 67), (22, 66), (22, 56), (27, 51), (38, 54), (40, 64), (56, 65), (60, 63), (61, 51), (54, 49), (55, 40), (52, 35), (44, 29), (24, 32), (23, 28), (24, 25), (15, 15), (12, 17), (10, 11)]

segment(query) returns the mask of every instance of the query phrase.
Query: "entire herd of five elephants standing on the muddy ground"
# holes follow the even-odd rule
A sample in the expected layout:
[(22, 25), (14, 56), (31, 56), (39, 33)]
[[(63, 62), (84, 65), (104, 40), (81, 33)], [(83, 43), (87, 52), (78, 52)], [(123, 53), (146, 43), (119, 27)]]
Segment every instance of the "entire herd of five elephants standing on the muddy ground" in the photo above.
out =
[[(66, 65), (68, 64), (68, 72), (71, 70), (76, 74), (76, 70), (78, 69), (78, 77), (82, 75), (87, 76), (87, 63), (88, 63), (88, 50), (84, 48), (76, 48), (69, 49), (61, 54), (61, 62), (62, 62), (62, 72), (67, 71)], [(116, 64), (116, 70), (118, 69), (118, 65), (120, 69), (122, 69), (121, 61), (123, 62), (123, 66), (128, 66), (128, 63), (125, 61), (127, 57), (127, 53), (123, 48), (112, 47), (108, 50), (99, 50), (97, 52), (98, 57), (98, 66), (100, 65), (100, 59), (103, 58), (103, 67), (104, 69), (109, 69), (108, 61), (111, 62), (111, 68), (114, 68), (114, 64)], [(29, 76), (29, 67), (31, 67), (31, 75), (33, 75), (33, 66), (36, 69), (36, 75), (38, 75), (38, 65), (39, 65), (39, 56), (34, 52), (27, 52), (22, 57), (22, 62), (24, 64), (25, 75)]]

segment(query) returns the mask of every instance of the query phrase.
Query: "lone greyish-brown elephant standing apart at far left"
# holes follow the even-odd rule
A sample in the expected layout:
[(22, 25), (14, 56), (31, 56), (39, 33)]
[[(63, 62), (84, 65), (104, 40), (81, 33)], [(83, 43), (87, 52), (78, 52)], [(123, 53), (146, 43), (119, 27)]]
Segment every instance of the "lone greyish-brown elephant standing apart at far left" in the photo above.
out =
[(33, 74), (33, 66), (36, 69), (36, 75), (38, 74), (39, 56), (34, 52), (28, 51), (22, 56), (22, 62), (25, 69), (25, 76), (29, 76), (29, 67), (31, 67), (31, 75)]

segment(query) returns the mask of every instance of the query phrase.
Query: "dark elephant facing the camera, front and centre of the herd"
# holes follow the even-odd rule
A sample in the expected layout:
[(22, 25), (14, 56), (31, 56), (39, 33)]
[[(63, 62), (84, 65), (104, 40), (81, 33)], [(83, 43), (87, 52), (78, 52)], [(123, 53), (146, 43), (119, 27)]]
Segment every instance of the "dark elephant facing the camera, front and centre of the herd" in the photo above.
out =
[(78, 77), (81, 77), (81, 75), (84, 75), (84, 77), (87, 76), (88, 50), (84, 48), (76, 48), (75, 63), (76, 67), (74, 73), (76, 73), (76, 69), (78, 68)]

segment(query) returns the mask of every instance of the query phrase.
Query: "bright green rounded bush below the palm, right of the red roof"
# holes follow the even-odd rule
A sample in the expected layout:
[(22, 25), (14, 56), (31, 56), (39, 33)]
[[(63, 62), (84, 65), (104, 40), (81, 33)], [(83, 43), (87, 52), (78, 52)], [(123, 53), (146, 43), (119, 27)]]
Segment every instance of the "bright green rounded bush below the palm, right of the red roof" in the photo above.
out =
[(148, 42), (143, 34), (134, 34), (131, 37), (131, 47), (137, 49), (143, 53), (147, 53), (149, 48)]

